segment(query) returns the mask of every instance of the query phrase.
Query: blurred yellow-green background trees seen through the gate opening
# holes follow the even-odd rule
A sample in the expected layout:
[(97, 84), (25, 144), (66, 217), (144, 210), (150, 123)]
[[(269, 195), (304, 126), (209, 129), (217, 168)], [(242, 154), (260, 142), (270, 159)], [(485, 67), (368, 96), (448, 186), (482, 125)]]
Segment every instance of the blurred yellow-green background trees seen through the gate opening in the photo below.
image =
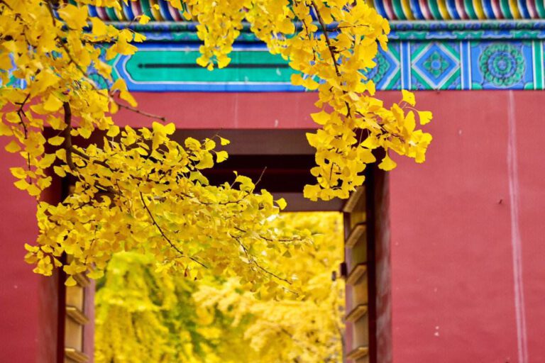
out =
[(258, 298), (237, 278), (180, 279), (151, 255), (115, 254), (98, 282), (95, 361), (341, 362), (341, 213), (282, 213), (272, 226), (313, 235), (277, 259), (301, 294)]

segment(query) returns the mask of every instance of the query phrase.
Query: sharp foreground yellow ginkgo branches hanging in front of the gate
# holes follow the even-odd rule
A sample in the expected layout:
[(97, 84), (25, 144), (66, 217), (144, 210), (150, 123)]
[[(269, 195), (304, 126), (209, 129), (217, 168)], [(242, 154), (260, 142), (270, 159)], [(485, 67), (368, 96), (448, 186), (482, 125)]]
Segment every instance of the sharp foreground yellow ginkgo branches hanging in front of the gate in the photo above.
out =
[[(317, 162), (317, 184), (304, 188), (309, 199), (347, 198), (363, 184), (378, 148), (424, 161), (431, 135), (417, 129), (416, 116), (424, 125), (431, 113), (414, 109), (414, 94), (407, 91), (399, 104), (385, 107), (363, 72), (375, 66), (390, 31), (365, 1), (170, 2), (197, 21), (199, 65), (228, 66), (246, 21), (270, 52), (299, 72), (294, 84), (318, 90), (321, 111), (312, 117), (321, 128), (307, 134)], [(242, 175), (233, 184), (210, 185), (202, 170), (228, 156), (215, 150), (215, 140), (177, 143), (172, 123), (140, 130), (114, 124), (120, 107), (138, 110), (125, 82), (113, 82), (101, 50), (106, 60), (131, 55), (133, 43), (144, 37), (89, 16), (87, 4), (120, 6), (118, 0), (0, 1), (0, 133), (10, 139), (6, 150), (26, 163), (25, 172), (13, 173), (16, 187), (39, 202), (40, 233), (26, 256), (34, 271), (51, 274), (66, 253), (73, 257), (63, 267), (67, 274), (99, 276), (114, 253), (132, 251), (192, 279), (238, 277), (241, 286), (263, 295), (299, 289), (275, 261), (307, 245), (309, 234), (285, 235), (271, 227), (283, 199), (275, 201)], [(89, 67), (111, 86), (99, 89)], [(56, 132), (46, 139), (45, 128)], [(93, 133), (107, 138), (85, 148), (72, 144), (72, 137)], [(395, 162), (386, 156), (379, 166), (392, 169)], [(76, 181), (74, 193), (56, 205), (40, 201), (53, 172)]]

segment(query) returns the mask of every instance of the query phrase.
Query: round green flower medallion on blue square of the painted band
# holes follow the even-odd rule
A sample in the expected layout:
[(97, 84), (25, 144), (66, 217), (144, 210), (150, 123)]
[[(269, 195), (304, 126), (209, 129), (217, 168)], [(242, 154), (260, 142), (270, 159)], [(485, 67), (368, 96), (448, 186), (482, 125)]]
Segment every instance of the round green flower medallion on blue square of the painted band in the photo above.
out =
[(522, 52), (511, 44), (488, 45), (479, 58), (483, 77), (498, 87), (508, 87), (520, 82), (525, 67)]

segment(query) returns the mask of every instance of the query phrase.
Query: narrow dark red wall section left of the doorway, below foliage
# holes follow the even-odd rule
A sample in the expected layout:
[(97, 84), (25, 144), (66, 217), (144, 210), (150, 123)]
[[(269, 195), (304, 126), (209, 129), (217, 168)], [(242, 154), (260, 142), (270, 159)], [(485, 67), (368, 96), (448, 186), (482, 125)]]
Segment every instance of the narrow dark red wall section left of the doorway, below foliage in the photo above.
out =
[[(38, 233), (33, 198), (13, 186), (9, 167), (23, 166), (0, 139), (0, 362), (57, 362), (57, 279), (40, 277), (24, 262), (25, 242)], [(58, 200), (60, 188), (44, 195)]]

